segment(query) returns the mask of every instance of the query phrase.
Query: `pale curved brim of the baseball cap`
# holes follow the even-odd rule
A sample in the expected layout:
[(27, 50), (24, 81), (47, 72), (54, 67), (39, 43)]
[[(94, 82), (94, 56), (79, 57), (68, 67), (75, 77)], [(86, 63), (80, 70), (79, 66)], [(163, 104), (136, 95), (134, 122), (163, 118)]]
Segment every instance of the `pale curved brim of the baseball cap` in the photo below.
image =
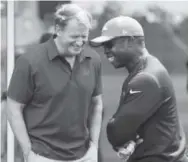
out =
[(114, 37), (100, 36), (100, 37), (97, 37), (97, 38), (90, 40), (89, 43), (90, 43), (91, 46), (97, 47), (97, 46), (101, 46), (105, 42), (112, 40), (113, 38)]

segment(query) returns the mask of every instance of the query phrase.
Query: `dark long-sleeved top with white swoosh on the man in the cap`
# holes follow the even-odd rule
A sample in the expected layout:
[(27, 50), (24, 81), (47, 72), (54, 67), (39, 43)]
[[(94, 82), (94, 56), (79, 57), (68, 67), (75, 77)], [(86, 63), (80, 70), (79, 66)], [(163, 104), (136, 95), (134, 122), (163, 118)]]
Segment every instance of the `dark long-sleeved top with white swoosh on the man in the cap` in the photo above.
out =
[(107, 125), (113, 148), (143, 138), (129, 162), (187, 162), (186, 140), (171, 78), (154, 56), (147, 56), (122, 86), (119, 107)]

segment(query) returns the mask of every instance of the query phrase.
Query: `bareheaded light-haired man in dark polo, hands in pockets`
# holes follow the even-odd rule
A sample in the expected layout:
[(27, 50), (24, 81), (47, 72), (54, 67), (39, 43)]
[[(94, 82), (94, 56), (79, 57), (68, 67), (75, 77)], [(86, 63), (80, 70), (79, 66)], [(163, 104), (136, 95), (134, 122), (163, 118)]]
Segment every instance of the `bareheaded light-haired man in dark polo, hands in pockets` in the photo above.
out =
[(7, 114), (26, 162), (97, 162), (103, 107), (100, 57), (85, 48), (91, 21), (60, 6), (55, 35), (16, 60)]

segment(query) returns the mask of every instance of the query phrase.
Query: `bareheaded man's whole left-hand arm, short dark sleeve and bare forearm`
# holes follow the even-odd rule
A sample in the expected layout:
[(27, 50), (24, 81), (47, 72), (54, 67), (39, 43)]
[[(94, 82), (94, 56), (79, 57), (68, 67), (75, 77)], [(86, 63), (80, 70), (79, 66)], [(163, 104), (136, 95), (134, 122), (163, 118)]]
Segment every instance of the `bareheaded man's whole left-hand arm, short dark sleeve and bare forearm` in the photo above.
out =
[(20, 56), (16, 60), (8, 88), (7, 118), (25, 157), (31, 150), (31, 142), (23, 118), (23, 109), (29, 101), (31, 102), (33, 91), (34, 81), (31, 65), (24, 56)]

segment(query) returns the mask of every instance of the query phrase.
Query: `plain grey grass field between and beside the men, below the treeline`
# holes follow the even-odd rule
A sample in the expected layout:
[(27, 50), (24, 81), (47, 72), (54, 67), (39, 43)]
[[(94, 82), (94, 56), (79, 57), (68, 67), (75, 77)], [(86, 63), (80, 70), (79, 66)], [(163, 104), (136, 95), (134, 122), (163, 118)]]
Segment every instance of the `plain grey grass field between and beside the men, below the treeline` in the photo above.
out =
[[(178, 111), (180, 119), (183, 123), (187, 141), (188, 141), (188, 94), (186, 93), (186, 76), (183, 75), (173, 75), (171, 76), (177, 96)], [(103, 76), (103, 99), (105, 108), (105, 117), (102, 125), (101, 134), (101, 147), (103, 162), (119, 162), (115, 152), (112, 150), (110, 144), (106, 138), (106, 124), (112, 114), (115, 112), (121, 91), (121, 85), (124, 81), (125, 76), (122, 75), (107, 75)]]

